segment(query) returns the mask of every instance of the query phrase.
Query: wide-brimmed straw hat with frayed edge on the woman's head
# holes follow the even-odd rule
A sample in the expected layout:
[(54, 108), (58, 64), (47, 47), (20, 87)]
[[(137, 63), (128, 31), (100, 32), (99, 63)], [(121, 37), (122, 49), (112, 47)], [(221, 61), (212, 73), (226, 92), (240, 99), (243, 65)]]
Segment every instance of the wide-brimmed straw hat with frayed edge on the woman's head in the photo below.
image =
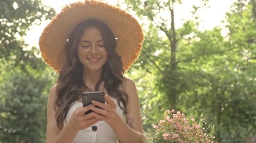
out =
[[(118, 38), (116, 52), (121, 55), (124, 71), (137, 60), (143, 43), (140, 24), (132, 15), (118, 7), (100, 1), (75, 2), (65, 6), (61, 13), (44, 29), (39, 39), (40, 52), (44, 62), (56, 71), (61, 71), (66, 60), (65, 44), (77, 24), (89, 19), (106, 23)], [(60, 59), (60, 60), (59, 60)]]

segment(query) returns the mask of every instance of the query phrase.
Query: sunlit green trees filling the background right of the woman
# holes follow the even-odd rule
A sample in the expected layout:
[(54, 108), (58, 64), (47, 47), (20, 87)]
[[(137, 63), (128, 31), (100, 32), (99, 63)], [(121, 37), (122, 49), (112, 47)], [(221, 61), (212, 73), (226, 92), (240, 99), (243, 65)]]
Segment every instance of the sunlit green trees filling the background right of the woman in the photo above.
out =
[[(256, 25), (252, 1), (234, 5), (226, 17), (227, 27), (203, 32), (197, 30), (195, 11), (194, 20), (172, 30), (171, 21), (156, 14), (168, 10), (164, 9), (167, 5), (126, 2), (140, 18), (149, 20), (143, 24), (148, 28), (144, 30), (143, 51), (129, 74), (142, 89), (138, 91), (147, 132), (175, 100), (177, 110), (196, 119), (203, 117), (215, 126), (218, 142), (243, 142), (246, 136), (255, 135)], [(150, 5), (145, 7), (145, 2)], [(224, 29), (229, 31), (227, 36), (222, 35)], [(176, 51), (171, 51), (173, 47)], [(175, 59), (174, 69), (171, 58)]]

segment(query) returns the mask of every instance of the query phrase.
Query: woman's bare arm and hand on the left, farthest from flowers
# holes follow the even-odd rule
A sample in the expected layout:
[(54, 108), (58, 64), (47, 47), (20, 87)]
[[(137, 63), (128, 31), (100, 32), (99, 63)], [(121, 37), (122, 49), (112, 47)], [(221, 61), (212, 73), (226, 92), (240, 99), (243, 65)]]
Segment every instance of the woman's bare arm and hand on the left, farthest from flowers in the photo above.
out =
[(56, 100), (56, 85), (50, 89), (48, 103), (47, 103), (47, 129), (46, 129), (46, 143), (55, 142), (72, 142), (76, 133), (81, 130), (88, 128), (94, 123), (98, 122), (98, 119), (92, 117), (91, 114), (85, 116), (85, 112), (89, 110), (88, 107), (79, 107), (74, 111), (71, 119), (67, 122), (64, 128), (61, 130), (58, 128), (55, 119), (55, 100)]

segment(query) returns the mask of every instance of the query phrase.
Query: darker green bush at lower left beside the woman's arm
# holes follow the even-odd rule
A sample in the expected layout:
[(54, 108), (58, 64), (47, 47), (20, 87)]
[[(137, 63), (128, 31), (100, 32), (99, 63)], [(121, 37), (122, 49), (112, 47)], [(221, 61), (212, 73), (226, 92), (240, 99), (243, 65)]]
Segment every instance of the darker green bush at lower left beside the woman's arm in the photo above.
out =
[(19, 69), (1, 76), (0, 142), (44, 142), (51, 80)]

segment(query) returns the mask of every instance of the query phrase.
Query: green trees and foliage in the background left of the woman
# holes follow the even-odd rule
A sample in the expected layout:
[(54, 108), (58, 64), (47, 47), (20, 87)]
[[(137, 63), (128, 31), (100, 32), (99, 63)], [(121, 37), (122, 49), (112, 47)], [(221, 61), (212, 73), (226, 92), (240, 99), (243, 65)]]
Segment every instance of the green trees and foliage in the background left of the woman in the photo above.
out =
[(46, 100), (55, 79), (22, 37), (55, 14), (41, 1), (0, 1), (0, 142), (44, 142)]

